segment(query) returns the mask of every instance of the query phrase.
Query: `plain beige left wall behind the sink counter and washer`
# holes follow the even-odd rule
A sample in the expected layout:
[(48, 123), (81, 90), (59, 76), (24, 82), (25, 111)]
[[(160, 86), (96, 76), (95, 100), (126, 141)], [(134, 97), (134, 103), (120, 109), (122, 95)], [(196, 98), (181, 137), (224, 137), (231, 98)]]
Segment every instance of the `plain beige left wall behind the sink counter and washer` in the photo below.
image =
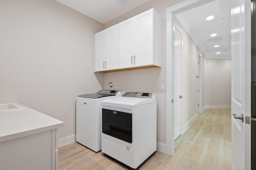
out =
[(55, 0), (0, 1), (0, 97), (64, 121), (74, 135), (76, 96), (97, 92), (94, 33), (103, 24)]

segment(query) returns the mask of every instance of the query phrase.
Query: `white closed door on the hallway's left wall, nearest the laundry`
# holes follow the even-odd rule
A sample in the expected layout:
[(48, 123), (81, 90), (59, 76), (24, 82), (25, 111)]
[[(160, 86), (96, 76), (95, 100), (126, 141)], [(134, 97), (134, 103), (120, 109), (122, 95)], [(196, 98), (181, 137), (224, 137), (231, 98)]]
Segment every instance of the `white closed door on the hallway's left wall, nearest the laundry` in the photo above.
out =
[(181, 135), (181, 33), (174, 28), (174, 140)]

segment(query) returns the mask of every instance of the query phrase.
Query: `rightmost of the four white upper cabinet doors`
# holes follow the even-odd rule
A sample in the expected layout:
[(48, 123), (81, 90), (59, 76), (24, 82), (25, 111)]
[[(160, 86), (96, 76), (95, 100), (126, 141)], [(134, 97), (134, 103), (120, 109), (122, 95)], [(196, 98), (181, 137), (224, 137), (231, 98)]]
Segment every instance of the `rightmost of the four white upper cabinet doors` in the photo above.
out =
[(134, 17), (134, 66), (153, 63), (153, 9)]

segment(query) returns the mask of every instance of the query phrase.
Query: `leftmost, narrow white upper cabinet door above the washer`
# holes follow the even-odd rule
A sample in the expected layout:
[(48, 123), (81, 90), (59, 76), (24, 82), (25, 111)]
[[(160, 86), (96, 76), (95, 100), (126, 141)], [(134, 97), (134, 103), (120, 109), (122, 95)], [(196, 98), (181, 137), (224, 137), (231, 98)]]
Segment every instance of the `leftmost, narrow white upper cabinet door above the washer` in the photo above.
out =
[(95, 34), (95, 71), (105, 69), (106, 61), (106, 30)]

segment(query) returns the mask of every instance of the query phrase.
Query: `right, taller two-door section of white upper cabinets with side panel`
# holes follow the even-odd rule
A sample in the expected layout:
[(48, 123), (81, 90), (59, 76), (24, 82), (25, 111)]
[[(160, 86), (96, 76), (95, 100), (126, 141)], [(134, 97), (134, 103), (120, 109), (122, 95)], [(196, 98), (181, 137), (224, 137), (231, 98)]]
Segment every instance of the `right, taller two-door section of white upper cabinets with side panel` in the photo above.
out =
[(161, 18), (154, 9), (118, 26), (119, 68), (161, 66)]

